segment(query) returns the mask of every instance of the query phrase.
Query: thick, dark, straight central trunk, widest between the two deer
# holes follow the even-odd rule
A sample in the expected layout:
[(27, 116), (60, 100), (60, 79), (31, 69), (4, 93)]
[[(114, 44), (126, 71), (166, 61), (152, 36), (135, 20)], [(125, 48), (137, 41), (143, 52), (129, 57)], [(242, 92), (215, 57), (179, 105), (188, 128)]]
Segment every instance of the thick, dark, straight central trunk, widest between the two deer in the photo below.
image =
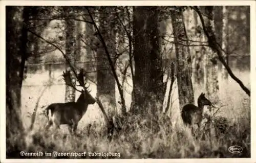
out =
[(164, 99), (157, 7), (134, 7), (134, 88), (131, 111), (154, 114), (162, 111)]

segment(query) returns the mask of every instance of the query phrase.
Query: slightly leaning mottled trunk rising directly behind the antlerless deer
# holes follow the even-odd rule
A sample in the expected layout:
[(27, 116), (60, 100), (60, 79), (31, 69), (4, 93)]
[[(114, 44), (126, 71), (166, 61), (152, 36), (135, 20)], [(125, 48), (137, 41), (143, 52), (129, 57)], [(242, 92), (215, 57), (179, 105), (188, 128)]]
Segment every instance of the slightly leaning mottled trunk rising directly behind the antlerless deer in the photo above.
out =
[(174, 31), (175, 53), (177, 61), (177, 82), (179, 104), (182, 108), (185, 104), (194, 103), (194, 91), (191, 80), (191, 56), (188, 47), (182, 11), (176, 9), (171, 13)]

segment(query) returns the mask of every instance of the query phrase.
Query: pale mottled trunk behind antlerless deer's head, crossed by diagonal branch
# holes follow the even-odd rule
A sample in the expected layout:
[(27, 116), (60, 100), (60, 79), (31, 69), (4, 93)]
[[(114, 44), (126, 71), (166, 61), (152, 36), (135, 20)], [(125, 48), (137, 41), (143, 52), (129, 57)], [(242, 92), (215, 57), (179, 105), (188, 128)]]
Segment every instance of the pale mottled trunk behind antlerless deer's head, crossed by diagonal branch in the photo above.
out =
[[(211, 28), (215, 32), (215, 24), (214, 24), (214, 7), (207, 6), (204, 7), (205, 15), (204, 22), (206, 28)], [(204, 36), (205, 37), (205, 36)], [(206, 40), (206, 38), (205, 38)], [(209, 42), (210, 40), (208, 40)], [(205, 81), (205, 92), (212, 102), (218, 101), (218, 92), (219, 92), (219, 84), (218, 84), (218, 64), (217, 64), (217, 54), (212, 52), (212, 50), (208, 47), (205, 48), (205, 57), (204, 57), (204, 81)]]

